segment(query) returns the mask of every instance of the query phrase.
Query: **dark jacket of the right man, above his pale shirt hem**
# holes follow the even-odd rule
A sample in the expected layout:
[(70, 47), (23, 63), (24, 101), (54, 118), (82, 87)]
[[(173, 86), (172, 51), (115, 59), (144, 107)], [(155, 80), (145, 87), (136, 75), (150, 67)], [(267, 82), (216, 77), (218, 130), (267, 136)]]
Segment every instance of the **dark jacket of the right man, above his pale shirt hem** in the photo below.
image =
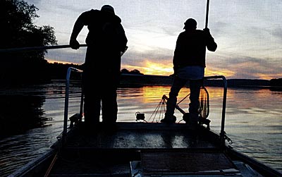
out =
[(216, 51), (217, 44), (209, 32), (203, 30), (185, 30), (176, 41), (173, 56), (173, 67), (206, 66), (206, 47)]

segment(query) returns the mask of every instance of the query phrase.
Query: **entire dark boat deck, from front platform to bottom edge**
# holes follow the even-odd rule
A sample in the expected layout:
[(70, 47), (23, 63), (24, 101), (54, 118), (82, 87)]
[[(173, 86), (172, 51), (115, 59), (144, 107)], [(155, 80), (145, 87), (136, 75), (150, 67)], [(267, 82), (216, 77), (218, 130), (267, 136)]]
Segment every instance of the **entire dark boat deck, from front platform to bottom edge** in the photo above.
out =
[(185, 123), (118, 123), (114, 131), (80, 127), (69, 134), (49, 176), (224, 176), (238, 172), (216, 136), (205, 129), (190, 130)]

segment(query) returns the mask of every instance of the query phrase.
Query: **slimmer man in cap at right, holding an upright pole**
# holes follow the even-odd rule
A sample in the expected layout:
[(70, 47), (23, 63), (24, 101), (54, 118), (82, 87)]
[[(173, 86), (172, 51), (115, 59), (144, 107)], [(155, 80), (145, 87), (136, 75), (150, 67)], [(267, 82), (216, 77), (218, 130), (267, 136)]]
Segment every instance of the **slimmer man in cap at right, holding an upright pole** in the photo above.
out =
[[(190, 104), (189, 104), (189, 124), (191, 128), (197, 127), (199, 116), (199, 96), (200, 87), (204, 78), (204, 68), (206, 67), (206, 48), (209, 51), (216, 51), (217, 44), (209, 32), (208, 28), (197, 30), (197, 21), (189, 18), (184, 23), (184, 32), (180, 32), (176, 41), (176, 49), (173, 56), (173, 85), (169, 92), (166, 104), (166, 113), (163, 123), (174, 123), (176, 116), (177, 96), (180, 89), (188, 82), (190, 83)], [(185, 121), (185, 120), (184, 120)]]

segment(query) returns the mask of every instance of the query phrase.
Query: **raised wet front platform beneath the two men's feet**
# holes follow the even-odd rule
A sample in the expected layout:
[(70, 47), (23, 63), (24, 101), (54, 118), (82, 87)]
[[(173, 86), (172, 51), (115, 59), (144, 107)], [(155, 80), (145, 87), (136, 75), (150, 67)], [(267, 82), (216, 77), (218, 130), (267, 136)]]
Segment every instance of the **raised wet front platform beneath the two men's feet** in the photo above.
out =
[(118, 123), (116, 130), (76, 130), (67, 148), (79, 149), (208, 149), (218, 148), (206, 131), (192, 131), (185, 123)]

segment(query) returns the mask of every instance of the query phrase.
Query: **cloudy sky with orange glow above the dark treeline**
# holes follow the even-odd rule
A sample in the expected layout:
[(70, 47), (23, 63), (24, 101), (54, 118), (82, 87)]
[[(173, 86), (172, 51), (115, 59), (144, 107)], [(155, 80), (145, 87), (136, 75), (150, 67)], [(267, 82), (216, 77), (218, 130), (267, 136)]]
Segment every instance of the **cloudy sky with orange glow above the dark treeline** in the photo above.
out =
[[(206, 0), (26, 0), (39, 8), (35, 25), (54, 27), (58, 44), (68, 44), (80, 13), (114, 6), (128, 37), (122, 68), (148, 75), (171, 75), (178, 34), (188, 18), (205, 25)], [(282, 78), (282, 1), (210, 0), (209, 24), (218, 49), (207, 51), (207, 75), (226, 78)], [(87, 27), (78, 36), (85, 44)], [(49, 50), (49, 61), (83, 63), (85, 48)]]

